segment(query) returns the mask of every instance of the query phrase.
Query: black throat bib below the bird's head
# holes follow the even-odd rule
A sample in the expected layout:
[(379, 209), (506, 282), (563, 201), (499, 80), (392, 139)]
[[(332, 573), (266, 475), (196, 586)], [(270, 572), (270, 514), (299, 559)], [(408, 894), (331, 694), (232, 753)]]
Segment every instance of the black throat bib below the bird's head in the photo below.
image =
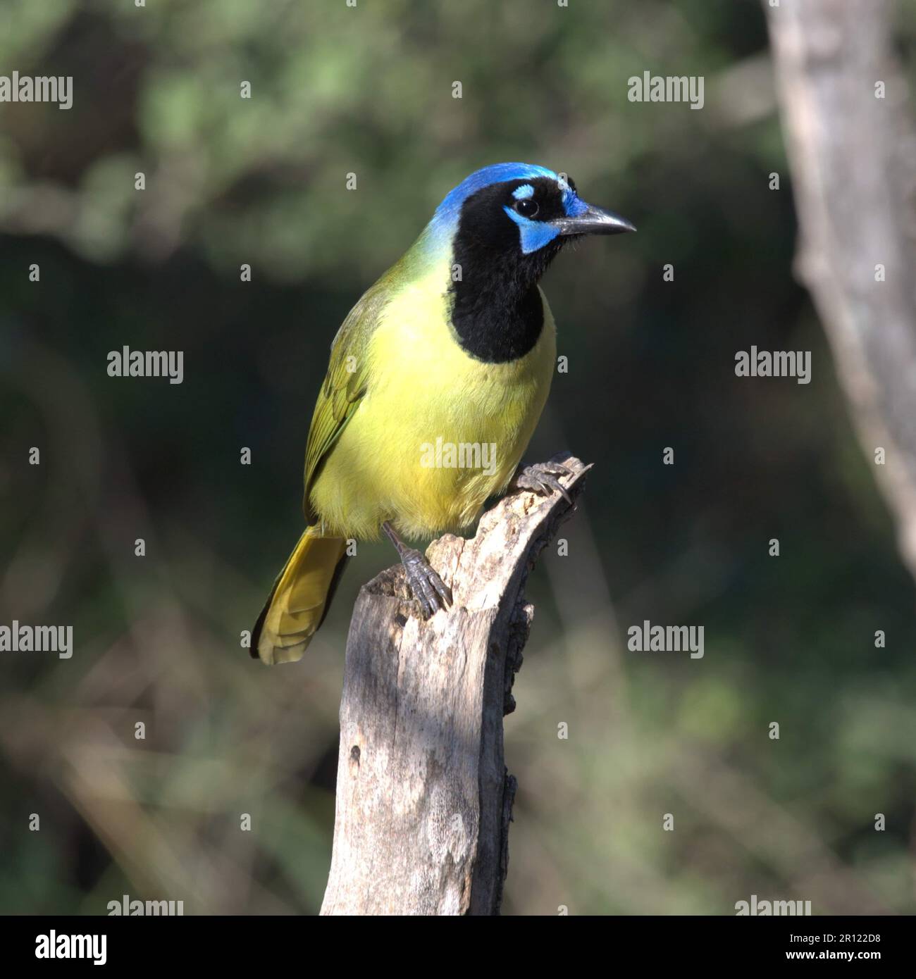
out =
[(549, 260), (491, 255), (456, 241), (450, 316), (463, 350), (478, 360), (506, 363), (534, 348), (544, 326), (538, 280)]

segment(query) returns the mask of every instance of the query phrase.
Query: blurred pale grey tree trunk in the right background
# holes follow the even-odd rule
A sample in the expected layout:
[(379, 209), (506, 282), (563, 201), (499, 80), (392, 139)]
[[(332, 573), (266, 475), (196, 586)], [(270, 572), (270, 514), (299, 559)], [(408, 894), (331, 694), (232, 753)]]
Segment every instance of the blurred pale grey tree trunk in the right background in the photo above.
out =
[[(894, 5), (764, 6), (798, 214), (797, 273), (916, 577), (916, 130), (892, 52)], [(876, 281), (878, 265), (885, 281)], [(878, 447), (885, 465), (875, 463)]]

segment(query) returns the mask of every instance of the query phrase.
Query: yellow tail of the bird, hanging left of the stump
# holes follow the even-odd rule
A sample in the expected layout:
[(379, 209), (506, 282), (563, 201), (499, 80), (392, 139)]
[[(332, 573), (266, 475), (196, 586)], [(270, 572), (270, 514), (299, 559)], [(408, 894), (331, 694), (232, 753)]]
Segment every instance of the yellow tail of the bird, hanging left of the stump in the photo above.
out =
[(309, 527), (273, 584), (252, 633), (252, 656), (268, 664), (295, 663), (312, 641), (346, 560), (347, 541)]

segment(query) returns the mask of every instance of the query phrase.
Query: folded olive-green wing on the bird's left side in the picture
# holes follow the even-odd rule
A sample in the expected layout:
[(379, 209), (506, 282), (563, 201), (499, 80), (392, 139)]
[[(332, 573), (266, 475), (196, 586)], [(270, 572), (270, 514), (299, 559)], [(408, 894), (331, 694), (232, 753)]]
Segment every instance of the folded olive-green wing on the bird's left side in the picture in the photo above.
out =
[(306, 447), (303, 513), (309, 524), (317, 522), (310, 495), (312, 484), (327, 453), (340, 438), (365, 394), (368, 383), (367, 350), (382, 309), (391, 296), (391, 269), (350, 310), (331, 344), (327, 376), (314, 406)]

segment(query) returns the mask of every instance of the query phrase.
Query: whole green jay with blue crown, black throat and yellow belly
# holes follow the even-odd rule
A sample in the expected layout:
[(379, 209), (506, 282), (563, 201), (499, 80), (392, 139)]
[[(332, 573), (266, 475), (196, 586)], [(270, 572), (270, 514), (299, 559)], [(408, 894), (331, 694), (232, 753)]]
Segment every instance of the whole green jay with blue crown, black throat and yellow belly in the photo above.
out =
[(385, 534), (429, 618), (452, 592), (408, 540), (460, 533), (510, 484), (565, 494), (565, 467), (520, 466), (556, 361), (540, 280), (566, 244), (635, 230), (531, 163), (484, 166), (446, 195), (331, 344), (306, 446), (306, 527), (252, 631), (253, 657), (302, 658), (348, 541)]

